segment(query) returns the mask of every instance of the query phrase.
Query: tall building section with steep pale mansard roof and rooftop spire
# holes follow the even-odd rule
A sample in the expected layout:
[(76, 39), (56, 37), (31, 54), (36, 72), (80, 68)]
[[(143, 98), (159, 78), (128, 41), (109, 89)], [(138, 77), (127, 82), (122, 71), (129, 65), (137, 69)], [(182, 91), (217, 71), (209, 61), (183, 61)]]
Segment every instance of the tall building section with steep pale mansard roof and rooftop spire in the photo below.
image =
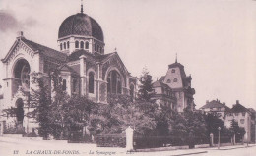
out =
[(176, 99), (177, 111), (183, 112), (184, 108), (195, 109), (194, 97), (195, 89), (191, 87), (191, 76), (186, 76), (184, 66), (176, 62), (168, 66), (168, 71), (165, 76), (160, 78), (160, 81), (168, 85)]

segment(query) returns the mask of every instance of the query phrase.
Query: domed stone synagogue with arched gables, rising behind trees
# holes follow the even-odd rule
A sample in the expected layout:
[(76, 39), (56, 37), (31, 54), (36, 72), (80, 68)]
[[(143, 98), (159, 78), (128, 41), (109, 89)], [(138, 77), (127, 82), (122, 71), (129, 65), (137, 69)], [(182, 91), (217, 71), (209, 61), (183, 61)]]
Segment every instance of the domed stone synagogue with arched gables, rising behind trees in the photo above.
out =
[[(117, 52), (105, 54), (104, 35), (96, 20), (83, 13), (66, 18), (58, 32), (59, 50), (35, 43), (19, 33), (2, 59), (4, 70), (1, 108), (10, 107), (26, 113), (28, 95), (33, 87), (31, 73), (47, 77), (53, 67), (60, 66), (63, 89), (69, 95), (86, 95), (96, 103), (107, 103), (107, 94), (130, 94), (135, 97), (136, 78), (132, 77)], [(1, 113), (1, 110), (0, 110)], [(2, 118), (8, 126), (32, 132), (32, 119), (23, 115)]]

